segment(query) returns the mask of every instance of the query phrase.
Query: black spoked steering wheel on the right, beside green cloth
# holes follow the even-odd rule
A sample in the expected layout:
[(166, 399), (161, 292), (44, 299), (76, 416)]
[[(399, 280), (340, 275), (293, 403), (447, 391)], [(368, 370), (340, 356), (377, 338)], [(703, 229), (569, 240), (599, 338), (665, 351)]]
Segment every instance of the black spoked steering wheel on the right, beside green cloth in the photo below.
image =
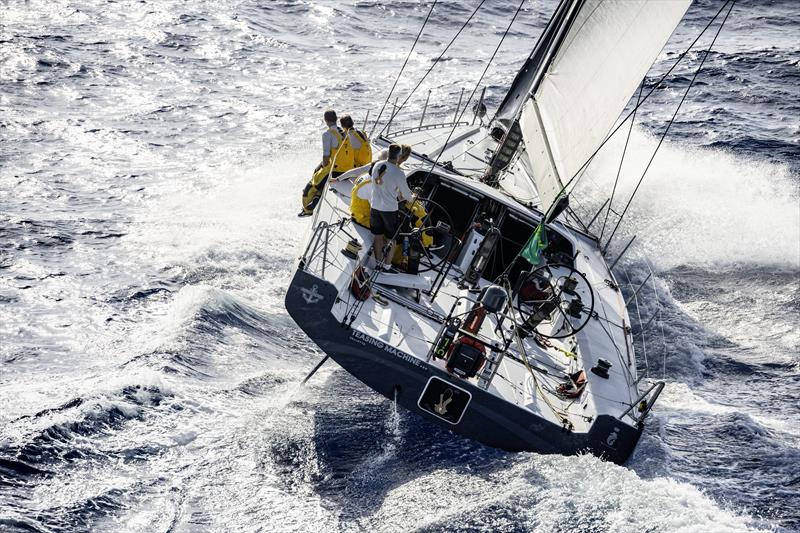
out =
[[(520, 327), (548, 339), (564, 339), (589, 323), (594, 311), (594, 291), (586, 276), (574, 267), (564, 263), (544, 264), (521, 281), (513, 299), (522, 321)], [(560, 325), (559, 318), (563, 319)]]

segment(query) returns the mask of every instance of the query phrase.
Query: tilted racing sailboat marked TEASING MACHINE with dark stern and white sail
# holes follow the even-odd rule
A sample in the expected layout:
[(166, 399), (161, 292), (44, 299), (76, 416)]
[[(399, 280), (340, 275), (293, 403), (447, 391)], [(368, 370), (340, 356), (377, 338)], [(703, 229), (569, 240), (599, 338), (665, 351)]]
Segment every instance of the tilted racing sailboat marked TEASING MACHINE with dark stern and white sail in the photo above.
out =
[[(623, 463), (664, 387), (642, 387), (625, 298), (565, 185), (586, 167), (691, 0), (562, 0), (494, 118), (389, 128), (425, 215), (376, 268), (329, 182), (286, 294), (322, 351), (455, 433)], [(424, 114), (424, 112), (423, 112)], [(457, 117), (458, 118), (458, 117)], [(443, 142), (437, 131), (448, 131)]]

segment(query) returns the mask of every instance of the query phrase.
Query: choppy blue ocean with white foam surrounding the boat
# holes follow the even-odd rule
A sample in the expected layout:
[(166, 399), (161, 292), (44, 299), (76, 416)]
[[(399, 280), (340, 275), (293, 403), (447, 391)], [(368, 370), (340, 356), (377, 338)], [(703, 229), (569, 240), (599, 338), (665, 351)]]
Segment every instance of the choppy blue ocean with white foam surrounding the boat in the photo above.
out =
[[(486, 2), (399, 123), (428, 90), (452, 117), (516, 4)], [(401, 101), (474, 5), (438, 3)], [(800, 530), (793, 0), (736, 3), (611, 246), (637, 236), (621, 280), (655, 273), (632, 313), (660, 313), (637, 338), (667, 382), (626, 465), (486, 448), (331, 363), (298, 387), (322, 354), (283, 296), (321, 113), (374, 118), (428, 6), (0, 1), (0, 530)], [(490, 114), (554, 7), (525, 4)], [(701, 57), (637, 115), (619, 198)]]

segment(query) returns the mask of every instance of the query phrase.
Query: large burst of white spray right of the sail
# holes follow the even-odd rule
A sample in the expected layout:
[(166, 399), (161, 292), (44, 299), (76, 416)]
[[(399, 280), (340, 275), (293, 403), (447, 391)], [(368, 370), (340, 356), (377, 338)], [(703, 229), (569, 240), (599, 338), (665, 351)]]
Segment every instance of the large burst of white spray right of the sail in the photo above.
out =
[[(598, 154), (587, 183), (578, 191), (581, 195), (595, 189), (589, 192), (595, 209), (611, 193), (622, 143), (624, 135), (618, 134)], [(624, 206), (656, 144), (657, 139), (634, 129), (615, 209)], [(615, 243), (622, 246), (624, 235), (636, 234), (647, 255), (663, 269), (684, 264), (798, 268), (798, 202), (800, 177), (787, 165), (664, 142)]]

